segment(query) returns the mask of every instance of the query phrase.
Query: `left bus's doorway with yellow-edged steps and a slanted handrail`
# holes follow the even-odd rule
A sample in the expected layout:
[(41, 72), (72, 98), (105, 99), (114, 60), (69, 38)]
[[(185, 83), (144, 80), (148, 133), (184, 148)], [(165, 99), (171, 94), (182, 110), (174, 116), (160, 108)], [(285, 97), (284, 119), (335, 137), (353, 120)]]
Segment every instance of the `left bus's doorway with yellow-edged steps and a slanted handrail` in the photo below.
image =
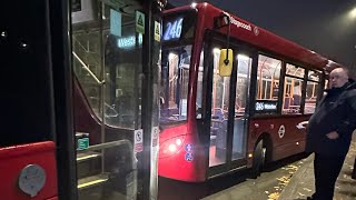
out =
[(85, 0), (72, 8), (79, 200), (157, 199), (160, 18), (154, 6), (159, 2)]

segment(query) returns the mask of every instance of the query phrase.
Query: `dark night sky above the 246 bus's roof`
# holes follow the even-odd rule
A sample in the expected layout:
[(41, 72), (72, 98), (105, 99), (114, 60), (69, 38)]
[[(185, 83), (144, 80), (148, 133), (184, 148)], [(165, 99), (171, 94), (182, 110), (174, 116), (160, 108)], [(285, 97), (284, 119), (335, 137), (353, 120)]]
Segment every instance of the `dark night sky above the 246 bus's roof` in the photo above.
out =
[[(174, 6), (194, 0), (168, 0)], [(210, 0), (258, 27), (356, 69), (356, 0)], [(356, 70), (355, 70), (356, 71)]]

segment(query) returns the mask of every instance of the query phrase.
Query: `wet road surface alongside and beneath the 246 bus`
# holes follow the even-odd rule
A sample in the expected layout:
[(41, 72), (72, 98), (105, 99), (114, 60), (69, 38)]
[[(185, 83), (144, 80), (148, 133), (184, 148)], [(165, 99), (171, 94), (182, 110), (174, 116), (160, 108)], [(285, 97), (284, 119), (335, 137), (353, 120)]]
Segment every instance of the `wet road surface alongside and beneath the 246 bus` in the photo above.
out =
[(249, 170), (211, 179), (205, 183), (187, 183), (159, 178), (159, 200), (274, 200), (278, 199), (291, 176), (303, 164), (299, 154), (269, 164), (256, 179)]

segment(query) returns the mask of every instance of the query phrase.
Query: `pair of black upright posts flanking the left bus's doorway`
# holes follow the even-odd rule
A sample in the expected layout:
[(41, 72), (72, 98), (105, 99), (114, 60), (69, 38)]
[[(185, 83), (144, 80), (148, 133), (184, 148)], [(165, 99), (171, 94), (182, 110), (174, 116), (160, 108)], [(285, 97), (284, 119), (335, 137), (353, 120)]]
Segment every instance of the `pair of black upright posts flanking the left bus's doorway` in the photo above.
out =
[[(47, 12), (49, 14), (49, 26), (51, 36), (51, 61), (53, 76), (53, 98), (55, 101), (55, 123), (56, 123), (56, 146), (57, 146), (57, 171), (58, 171), (58, 197), (59, 199), (78, 199), (77, 190), (77, 160), (76, 139), (73, 130), (73, 97), (72, 97), (72, 53), (71, 53), (71, 4), (70, 1), (48, 1)], [(142, 1), (144, 3), (144, 1)], [(150, 101), (142, 102), (142, 128), (144, 138), (144, 199), (155, 197), (157, 193), (150, 190), (151, 176), (151, 128), (155, 126), (151, 120), (154, 110), (154, 79), (158, 76), (154, 70), (154, 23), (156, 17), (156, 1), (146, 2), (147, 16), (145, 18), (145, 36), (142, 43), (144, 89), (142, 97)], [(70, 33), (70, 34), (68, 34)]]

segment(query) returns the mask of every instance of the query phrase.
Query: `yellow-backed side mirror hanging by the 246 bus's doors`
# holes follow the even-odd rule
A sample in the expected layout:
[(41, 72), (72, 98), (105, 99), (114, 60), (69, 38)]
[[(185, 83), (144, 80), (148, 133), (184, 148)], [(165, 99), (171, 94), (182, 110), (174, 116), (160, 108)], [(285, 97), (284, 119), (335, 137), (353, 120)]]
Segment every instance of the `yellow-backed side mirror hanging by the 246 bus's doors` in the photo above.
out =
[(230, 77), (233, 71), (233, 49), (221, 49), (219, 59), (219, 76)]

